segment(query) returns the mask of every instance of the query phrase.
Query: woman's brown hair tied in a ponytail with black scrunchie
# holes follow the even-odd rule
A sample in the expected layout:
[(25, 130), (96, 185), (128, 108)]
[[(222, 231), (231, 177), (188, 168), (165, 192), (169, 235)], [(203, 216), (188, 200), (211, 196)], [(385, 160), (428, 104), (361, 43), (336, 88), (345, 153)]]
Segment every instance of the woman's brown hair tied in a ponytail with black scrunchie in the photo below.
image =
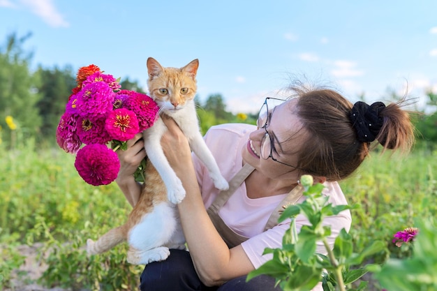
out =
[(289, 88), (297, 100), (297, 115), (306, 131), (306, 144), (299, 152), (297, 167), (302, 174), (323, 176), (330, 181), (345, 179), (376, 147), (408, 152), (414, 142), (410, 112), (401, 104), (355, 105), (331, 89)]

